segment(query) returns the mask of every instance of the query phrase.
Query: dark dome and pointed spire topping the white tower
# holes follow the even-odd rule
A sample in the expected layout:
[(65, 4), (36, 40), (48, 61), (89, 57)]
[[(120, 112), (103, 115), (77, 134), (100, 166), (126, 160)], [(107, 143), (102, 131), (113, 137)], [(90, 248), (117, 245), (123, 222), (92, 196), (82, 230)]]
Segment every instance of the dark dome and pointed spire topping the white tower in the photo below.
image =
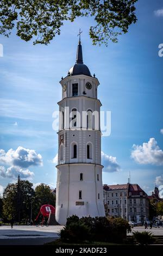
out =
[(68, 76), (75, 75), (91, 76), (89, 68), (85, 64), (83, 64), (83, 53), (80, 40), (77, 48), (76, 64), (74, 64), (74, 66), (72, 66), (72, 68), (68, 71)]

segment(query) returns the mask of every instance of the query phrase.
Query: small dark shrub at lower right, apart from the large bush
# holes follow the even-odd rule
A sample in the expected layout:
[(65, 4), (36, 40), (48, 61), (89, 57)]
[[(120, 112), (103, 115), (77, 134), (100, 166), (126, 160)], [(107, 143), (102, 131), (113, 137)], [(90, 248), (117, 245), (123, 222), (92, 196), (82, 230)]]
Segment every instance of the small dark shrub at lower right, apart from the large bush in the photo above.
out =
[(154, 242), (154, 237), (152, 232), (148, 231), (133, 231), (132, 232), (134, 239), (139, 245), (152, 245)]

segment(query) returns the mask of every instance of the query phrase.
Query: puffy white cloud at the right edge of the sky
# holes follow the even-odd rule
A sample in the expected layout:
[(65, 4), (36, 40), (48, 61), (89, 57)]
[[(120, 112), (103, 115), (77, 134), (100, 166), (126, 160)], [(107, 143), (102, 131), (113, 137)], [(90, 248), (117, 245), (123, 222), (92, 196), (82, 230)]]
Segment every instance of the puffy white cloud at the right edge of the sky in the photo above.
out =
[(163, 164), (163, 151), (157, 145), (155, 138), (150, 138), (148, 143), (142, 145), (133, 145), (131, 158), (141, 164)]

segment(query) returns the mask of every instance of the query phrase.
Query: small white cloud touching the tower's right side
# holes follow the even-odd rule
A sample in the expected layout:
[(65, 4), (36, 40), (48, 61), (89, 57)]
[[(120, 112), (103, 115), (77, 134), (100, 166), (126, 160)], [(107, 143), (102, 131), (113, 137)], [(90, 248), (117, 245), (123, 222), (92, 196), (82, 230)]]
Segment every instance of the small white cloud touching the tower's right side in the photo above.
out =
[(101, 157), (104, 166), (103, 172), (118, 172), (120, 170), (116, 157), (108, 156), (103, 151), (101, 152)]

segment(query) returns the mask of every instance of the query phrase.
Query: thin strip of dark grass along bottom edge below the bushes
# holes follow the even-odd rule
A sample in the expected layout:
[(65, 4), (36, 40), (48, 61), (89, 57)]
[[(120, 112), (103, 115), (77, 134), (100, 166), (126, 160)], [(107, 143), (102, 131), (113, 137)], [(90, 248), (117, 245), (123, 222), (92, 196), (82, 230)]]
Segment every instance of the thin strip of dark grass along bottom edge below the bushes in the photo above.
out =
[(109, 242), (89, 242), (85, 241), (82, 243), (66, 243), (62, 242), (60, 239), (54, 240), (53, 242), (45, 243), (44, 245), (55, 245), (55, 246), (60, 246), (60, 245), (124, 245), (124, 243), (109, 243)]

